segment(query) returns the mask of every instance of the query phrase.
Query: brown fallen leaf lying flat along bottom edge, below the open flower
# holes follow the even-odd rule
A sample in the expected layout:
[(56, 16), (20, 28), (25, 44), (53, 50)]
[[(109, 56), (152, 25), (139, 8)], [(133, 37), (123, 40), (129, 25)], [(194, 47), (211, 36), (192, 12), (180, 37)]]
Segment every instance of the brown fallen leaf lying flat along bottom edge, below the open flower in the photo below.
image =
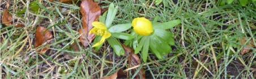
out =
[(101, 79), (116, 79), (116, 78), (127, 78), (127, 75), (123, 72), (123, 69), (119, 69), (118, 72), (113, 75), (102, 77)]

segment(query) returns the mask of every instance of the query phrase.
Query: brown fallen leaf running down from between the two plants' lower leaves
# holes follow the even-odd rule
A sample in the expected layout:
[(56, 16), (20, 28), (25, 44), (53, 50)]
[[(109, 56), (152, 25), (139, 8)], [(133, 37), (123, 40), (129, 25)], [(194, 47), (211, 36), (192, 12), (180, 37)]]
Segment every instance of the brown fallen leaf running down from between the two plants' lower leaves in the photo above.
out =
[[(130, 47), (127, 47), (126, 45), (123, 45), (123, 49), (125, 49), (125, 54), (127, 56), (129, 56), (129, 66), (134, 67), (134, 66), (138, 66), (141, 64), (141, 60), (139, 58), (139, 56), (137, 54), (134, 54), (134, 50), (131, 49)], [(132, 73), (135, 73), (136, 69), (132, 69)], [(144, 69), (140, 69), (139, 73), (135, 76), (135, 78), (146, 78)]]

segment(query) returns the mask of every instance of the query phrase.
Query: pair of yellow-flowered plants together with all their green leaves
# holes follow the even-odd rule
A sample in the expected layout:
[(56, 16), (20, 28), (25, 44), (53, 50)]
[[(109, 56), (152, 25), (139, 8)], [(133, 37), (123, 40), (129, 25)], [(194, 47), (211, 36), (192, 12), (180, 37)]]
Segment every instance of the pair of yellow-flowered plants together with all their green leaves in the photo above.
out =
[[(147, 62), (148, 52), (152, 52), (157, 58), (162, 59), (172, 51), (171, 45), (174, 45), (172, 32), (168, 29), (180, 24), (180, 20), (172, 20), (164, 23), (150, 21), (145, 17), (134, 18), (127, 24), (112, 25), (117, 13), (118, 6), (110, 4), (108, 12), (100, 16), (100, 21), (92, 22), (93, 29), (89, 34), (95, 34), (93, 46), (97, 50), (106, 40), (114, 52), (120, 56), (125, 54), (125, 50), (118, 39), (126, 40), (125, 44), (134, 48), (135, 54), (140, 53), (143, 62)], [(123, 31), (130, 30), (130, 34)]]

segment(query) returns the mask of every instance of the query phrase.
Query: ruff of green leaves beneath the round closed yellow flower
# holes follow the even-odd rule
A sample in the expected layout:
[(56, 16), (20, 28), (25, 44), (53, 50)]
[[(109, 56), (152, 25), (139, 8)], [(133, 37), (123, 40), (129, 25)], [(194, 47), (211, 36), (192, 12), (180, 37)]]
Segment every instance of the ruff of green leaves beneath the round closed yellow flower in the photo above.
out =
[[(163, 59), (164, 55), (172, 51), (171, 45), (174, 45), (173, 34), (167, 29), (172, 29), (172, 27), (180, 23), (181, 20), (172, 20), (164, 23), (153, 21), (154, 32), (152, 35), (135, 38), (139, 39), (138, 45), (133, 45), (133, 47), (136, 46), (135, 54), (141, 52), (143, 62), (147, 62), (148, 50), (150, 50), (157, 58)], [(136, 41), (138, 40), (134, 40), (133, 44), (136, 44)]]

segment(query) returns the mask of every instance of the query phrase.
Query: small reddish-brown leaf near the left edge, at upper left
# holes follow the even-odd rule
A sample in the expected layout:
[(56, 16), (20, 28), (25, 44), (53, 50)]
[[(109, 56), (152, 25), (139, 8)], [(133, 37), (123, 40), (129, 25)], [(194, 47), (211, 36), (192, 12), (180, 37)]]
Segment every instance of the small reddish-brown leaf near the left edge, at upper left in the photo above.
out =
[(8, 8), (6, 10), (3, 10), (2, 17), (2, 23), (5, 24), (5, 26), (12, 25), (12, 15), (8, 12)]

